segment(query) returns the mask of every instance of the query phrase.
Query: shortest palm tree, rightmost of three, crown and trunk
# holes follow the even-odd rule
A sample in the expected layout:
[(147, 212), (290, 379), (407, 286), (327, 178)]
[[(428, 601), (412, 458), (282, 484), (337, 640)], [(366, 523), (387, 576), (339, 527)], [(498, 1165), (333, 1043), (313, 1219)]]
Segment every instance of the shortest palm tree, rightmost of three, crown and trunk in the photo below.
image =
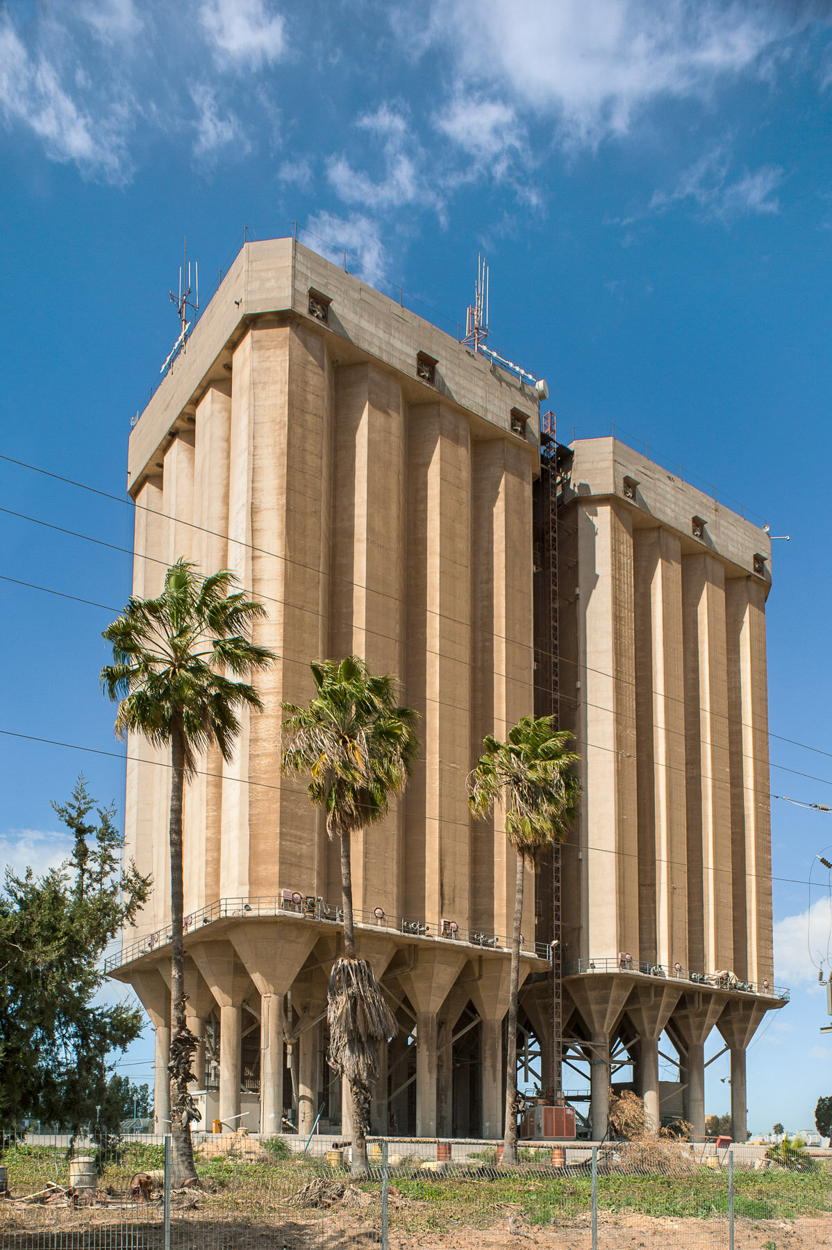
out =
[(486, 816), (495, 804), (506, 812), (506, 836), (517, 852), (515, 924), (511, 935), (508, 985), (508, 1055), (506, 1058), (505, 1164), (517, 1162), (517, 995), (523, 914), (523, 869), (535, 869), (541, 852), (563, 839), (572, 821), (581, 785), (572, 766), (580, 756), (567, 750), (572, 734), (557, 732), (551, 716), (523, 716), (508, 731), (508, 741), (488, 735), (485, 755), (468, 776), (468, 804), (475, 816)]

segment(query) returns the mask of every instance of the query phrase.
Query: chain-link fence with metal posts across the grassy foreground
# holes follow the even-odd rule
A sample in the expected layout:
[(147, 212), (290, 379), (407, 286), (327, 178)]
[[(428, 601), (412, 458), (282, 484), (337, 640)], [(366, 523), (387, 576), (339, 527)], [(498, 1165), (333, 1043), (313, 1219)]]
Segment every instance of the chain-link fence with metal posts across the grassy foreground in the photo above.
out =
[(161, 1138), (4, 1139), (0, 1250), (808, 1250), (832, 1244), (832, 1158), (655, 1141), (195, 1135), (171, 1190)]

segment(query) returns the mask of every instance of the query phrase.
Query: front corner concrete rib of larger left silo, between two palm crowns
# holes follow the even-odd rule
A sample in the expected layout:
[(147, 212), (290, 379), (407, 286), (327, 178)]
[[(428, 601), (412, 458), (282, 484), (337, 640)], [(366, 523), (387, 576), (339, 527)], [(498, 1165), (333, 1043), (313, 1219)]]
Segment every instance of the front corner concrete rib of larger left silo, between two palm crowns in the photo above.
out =
[(310, 660), (326, 650), (321, 584), (329, 574), (331, 438), (325, 340), (306, 326), (252, 328), (252, 570), (267, 618), (254, 636), (277, 655), (257, 679), (264, 711), (251, 716), (249, 891), (315, 894), (319, 815), (306, 782), (281, 778), (281, 700), (306, 702)]

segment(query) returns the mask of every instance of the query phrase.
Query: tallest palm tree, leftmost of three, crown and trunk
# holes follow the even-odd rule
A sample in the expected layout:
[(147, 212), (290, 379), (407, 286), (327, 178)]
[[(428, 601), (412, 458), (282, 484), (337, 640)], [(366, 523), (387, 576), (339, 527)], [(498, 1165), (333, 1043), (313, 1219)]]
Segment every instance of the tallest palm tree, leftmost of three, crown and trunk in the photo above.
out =
[(182, 886), (182, 798), (197, 756), (216, 742), (231, 759), (240, 729), (237, 710), (261, 710), (254, 686), (235, 680), (265, 669), (271, 651), (255, 646), (249, 628), (264, 616), (227, 570), (201, 578), (180, 560), (165, 575), (157, 599), (130, 599), (104, 630), (112, 664), (101, 669), (101, 686), (119, 702), (116, 734), (142, 734), (154, 746), (170, 746), (170, 895), (171, 895), (171, 1042), (170, 1105), (174, 1178), (196, 1179), (190, 1121), (199, 1119), (189, 1094), (196, 1038), (185, 1022)]

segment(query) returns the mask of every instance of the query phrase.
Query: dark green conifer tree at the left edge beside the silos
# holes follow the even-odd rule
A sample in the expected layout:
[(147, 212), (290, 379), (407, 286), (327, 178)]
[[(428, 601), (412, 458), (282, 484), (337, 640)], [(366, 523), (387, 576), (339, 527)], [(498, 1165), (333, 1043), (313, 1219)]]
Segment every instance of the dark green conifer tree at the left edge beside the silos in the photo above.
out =
[(140, 1010), (96, 1001), (101, 959), (147, 898), (149, 879), (120, 869), (115, 806), (95, 809), (84, 778), (55, 811), (72, 851), (42, 876), (6, 869), (0, 894), (0, 1124), (24, 1116), (77, 1132), (96, 1120), (107, 1056), (141, 1032)]

